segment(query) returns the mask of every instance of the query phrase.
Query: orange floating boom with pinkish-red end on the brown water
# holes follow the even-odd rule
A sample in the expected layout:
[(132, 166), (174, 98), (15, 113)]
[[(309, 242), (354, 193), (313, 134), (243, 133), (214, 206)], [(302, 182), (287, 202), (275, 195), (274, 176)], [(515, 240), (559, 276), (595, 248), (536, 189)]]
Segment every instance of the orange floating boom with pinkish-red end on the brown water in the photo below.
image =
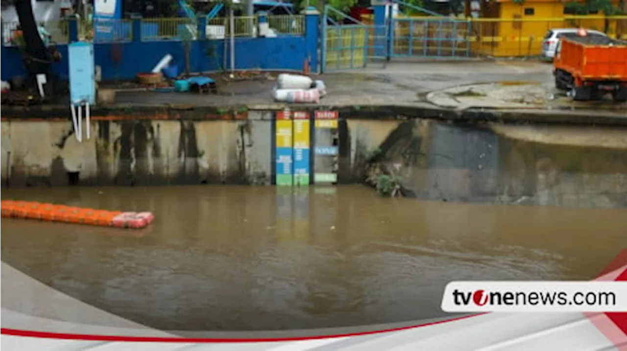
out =
[(154, 220), (150, 212), (121, 212), (93, 210), (51, 203), (0, 200), (0, 218), (26, 218), (116, 228), (141, 229)]

